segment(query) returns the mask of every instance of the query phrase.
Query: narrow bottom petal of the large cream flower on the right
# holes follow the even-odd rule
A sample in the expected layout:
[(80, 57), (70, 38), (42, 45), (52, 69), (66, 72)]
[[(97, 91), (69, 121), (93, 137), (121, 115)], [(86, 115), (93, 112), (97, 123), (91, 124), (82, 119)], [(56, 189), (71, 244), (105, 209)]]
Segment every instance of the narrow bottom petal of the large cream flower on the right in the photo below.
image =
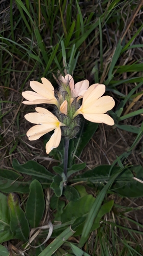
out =
[(113, 119), (107, 114), (84, 114), (83, 117), (94, 123), (105, 123), (108, 125), (113, 125)]

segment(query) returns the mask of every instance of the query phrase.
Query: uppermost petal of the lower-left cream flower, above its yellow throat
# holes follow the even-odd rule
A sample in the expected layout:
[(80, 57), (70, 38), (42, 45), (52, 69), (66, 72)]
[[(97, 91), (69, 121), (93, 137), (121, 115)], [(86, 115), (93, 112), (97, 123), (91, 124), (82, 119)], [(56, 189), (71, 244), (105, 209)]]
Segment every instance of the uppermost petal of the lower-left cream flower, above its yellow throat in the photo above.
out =
[(44, 108), (36, 108), (35, 110), (38, 113), (28, 113), (24, 116), (27, 121), (35, 124), (45, 123), (47, 126), (50, 125), (50, 127), (53, 127), (53, 129), (60, 125), (58, 118), (56, 118), (50, 111)]

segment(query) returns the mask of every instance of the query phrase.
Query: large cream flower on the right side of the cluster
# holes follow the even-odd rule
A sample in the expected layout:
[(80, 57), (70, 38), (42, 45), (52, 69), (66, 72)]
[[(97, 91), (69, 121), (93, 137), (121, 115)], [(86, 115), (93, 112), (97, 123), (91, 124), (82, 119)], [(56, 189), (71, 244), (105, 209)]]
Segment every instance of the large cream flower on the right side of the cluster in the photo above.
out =
[(90, 86), (83, 95), (82, 105), (73, 117), (82, 114), (85, 119), (91, 122), (113, 125), (113, 119), (104, 113), (113, 108), (115, 101), (110, 96), (101, 97), (104, 92), (104, 84), (95, 83)]

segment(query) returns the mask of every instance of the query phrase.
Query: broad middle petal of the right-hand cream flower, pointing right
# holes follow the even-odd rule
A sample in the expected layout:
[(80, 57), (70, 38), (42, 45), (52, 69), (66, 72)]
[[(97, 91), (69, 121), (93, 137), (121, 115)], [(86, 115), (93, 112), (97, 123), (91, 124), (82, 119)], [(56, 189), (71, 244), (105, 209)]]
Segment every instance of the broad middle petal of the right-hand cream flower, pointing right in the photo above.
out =
[(100, 113), (106, 113), (108, 110), (111, 110), (115, 106), (115, 101), (110, 96), (103, 96), (99, 99), (97, 99), (93, 104), (84, 106), (82, 104), (82, 108), (80, 108), (80, 111), (83, 113), (90, 113), (90, 114), (100, 114)]

